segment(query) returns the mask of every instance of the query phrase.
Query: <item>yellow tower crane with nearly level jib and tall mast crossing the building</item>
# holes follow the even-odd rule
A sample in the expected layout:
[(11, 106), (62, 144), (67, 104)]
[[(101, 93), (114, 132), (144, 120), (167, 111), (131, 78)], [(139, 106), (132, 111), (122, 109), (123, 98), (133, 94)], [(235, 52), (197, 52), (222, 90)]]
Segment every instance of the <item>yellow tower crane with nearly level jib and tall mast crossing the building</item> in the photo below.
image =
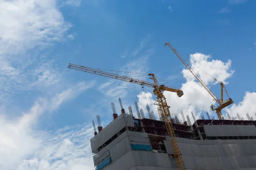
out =
[(183, 95), (183, 91), (181, 91), (179, 89), (175, 89), (175, 88), (169, 88), (165, 85), (160, 85), (154, 74), (148, 74), (148, 76), (150, 76), (150, 79), (152, 79), (154, 81), (154, 83), (152, 83), (152, 82), (145, 82), (140, 79), (133, 79), (131, 77), (125, 77), (125, 76), (121, 76), (118, 74), (101, 71), (99, 69), (88, 68), (88, 67), (75, 65), (75, 64), (69, 64), (68, 68), (154, 88), (153, 93), (154, 93), (154, 95), (157, 96), (157, 101), (154, 104), (158, 105), (160, 108), (160, 113), (161, 113), (161, 116), (163, 117), (163, 120), (166, 125), (166, 129), (167, 129), (170, 141), (171, 141), (172, 150), (174, 153), (175, 161), (178, 166), (178, 170), (186, 170), (184, 161), (182, 158), (182, 154), (180, 152), (180, 148), (179, 148), (176, 136), (175, 136), (175, 131), (174, 131), (174, 128), (173, 128), (171, 120), (170, 120), (170, 111), (169, 111), (170, 107), (167, 105), (166, 98), (163, 95), (163, 91), (171, 91), (171, 92), (177, 93), (178, 97), (181, 97)]

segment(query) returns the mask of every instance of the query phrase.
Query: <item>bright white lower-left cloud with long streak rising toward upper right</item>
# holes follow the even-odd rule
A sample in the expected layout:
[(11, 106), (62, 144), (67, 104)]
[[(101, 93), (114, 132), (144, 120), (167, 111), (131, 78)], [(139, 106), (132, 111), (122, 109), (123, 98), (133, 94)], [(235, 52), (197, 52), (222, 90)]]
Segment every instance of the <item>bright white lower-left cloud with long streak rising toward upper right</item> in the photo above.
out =
[[(21, 163), (22, 159), (31, 157), (34, 153), (44, 152), (46, 136), (42, 136), (41, 133), (35, 130), (39, 117), (43, 113), (50, 113), (59, 108), (61, 104), (65, 101), (68, 101), (78, 94), (82, 93), (87, 88), (90, 88), (93, 85), (93, 82), (85, 84), (81, 82), (77, 85), (74, 85), (73, 88), (69, 88), (66, 91), (55, 94), (52, 97), (39, 98), (34, 105), (30, 108), (29, 111), (23, 113), (23, 116), (16, 118), (15, 120), (7, 120), (2, 114), (0, 115), (0, 167), (5, 170), (17, 169), (17, 165)], [(90, 130), (90, 129), (89, 129)], [(86, 131), (86, 130), (85, 130)], [(40, 134), (39, 134), (40, 133)], [(81, 135), (79, 133), (79, 135)], [(73, 136), (71, 133), (70, 136)], [(47, 140), (61, 140), (61, 136), (52, 135)], [(76, 136), (77, 137), (77, 136)], [(76, 138), (73, 139), (73, 142), (76, 142)], [(72, 154), (75, 148), (70, 149), (69, 139), (63, 139), (64, 142), (59, 147), (64, 149), (55, 151), (57, 157), (66, 156), (68, 157), (68, 152)], [(72, 145), (72, 144), (71, 144)], [(52, 146), (52, 145), (51, 145)], [(49, 147), (51, 147), (49, 144)], [(59, 148), (56, 147), (56, 148)], [(72, 147), (72, 146), (71, 146)], [(69, 150), (70, 149), (70, 150)], [(47, 153), (45, 151), (44, 153)], [(45, 154), (43, 154), (45, 156)], [(48, 155), (49, 156), (49, 155)], [(74, 158), (75, 159), (75, 158)], [(38, 159), (31, 159), (30, 161), (36, 163)], [(47, 160), (48, 161), (48, 160)], [(47, 161), (39, 161), (40, 164), (45, 164)], [(30, 162), (30, 163), (31, 163)], [(24, 162), (23, 162), (24, 163)], [(25, 161), (26, 163), (26, 161)], [(49, 162), (48, 162), (49, 163)], [(22, 165), (23, 166), (23, 165)], [(44, 166), (44, 165), (40, 165)], [(29, 169), (27, 167), (26, 169)]]

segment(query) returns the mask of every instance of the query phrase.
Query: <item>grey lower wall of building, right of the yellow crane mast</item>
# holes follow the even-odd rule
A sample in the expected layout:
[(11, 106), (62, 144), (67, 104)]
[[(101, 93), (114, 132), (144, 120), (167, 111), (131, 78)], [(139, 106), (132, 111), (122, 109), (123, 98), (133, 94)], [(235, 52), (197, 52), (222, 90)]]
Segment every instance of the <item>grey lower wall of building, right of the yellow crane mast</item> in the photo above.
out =
[[(256, 170), (256, 139), (178, 141), (187, 169)], [(165, 141), (165, 145), (167, 153), (172, 154), (170, 141)]]

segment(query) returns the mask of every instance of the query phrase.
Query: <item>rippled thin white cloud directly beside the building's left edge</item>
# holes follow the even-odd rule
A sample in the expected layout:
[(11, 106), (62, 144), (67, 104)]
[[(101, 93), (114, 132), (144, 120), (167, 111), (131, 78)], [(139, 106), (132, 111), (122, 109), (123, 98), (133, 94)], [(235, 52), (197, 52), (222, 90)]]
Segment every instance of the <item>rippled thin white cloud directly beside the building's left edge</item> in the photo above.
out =
[(18, 170), (91, 170), (92, 125), (76, 125), (40, 133), (41, 141), (33, 154), (17, 165)]

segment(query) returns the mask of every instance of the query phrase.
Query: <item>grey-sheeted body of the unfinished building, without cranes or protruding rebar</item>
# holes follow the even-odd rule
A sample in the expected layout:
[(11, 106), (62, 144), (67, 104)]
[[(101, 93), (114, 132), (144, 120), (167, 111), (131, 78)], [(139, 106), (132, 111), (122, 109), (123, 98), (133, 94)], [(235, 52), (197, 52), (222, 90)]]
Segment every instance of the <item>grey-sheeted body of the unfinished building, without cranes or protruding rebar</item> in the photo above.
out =
[[(256, 170), (256, 121), (176, 124), (187, 170)], [(96, 170), (177, 170), (165, 124), (122, 113), (91, 140)]]

